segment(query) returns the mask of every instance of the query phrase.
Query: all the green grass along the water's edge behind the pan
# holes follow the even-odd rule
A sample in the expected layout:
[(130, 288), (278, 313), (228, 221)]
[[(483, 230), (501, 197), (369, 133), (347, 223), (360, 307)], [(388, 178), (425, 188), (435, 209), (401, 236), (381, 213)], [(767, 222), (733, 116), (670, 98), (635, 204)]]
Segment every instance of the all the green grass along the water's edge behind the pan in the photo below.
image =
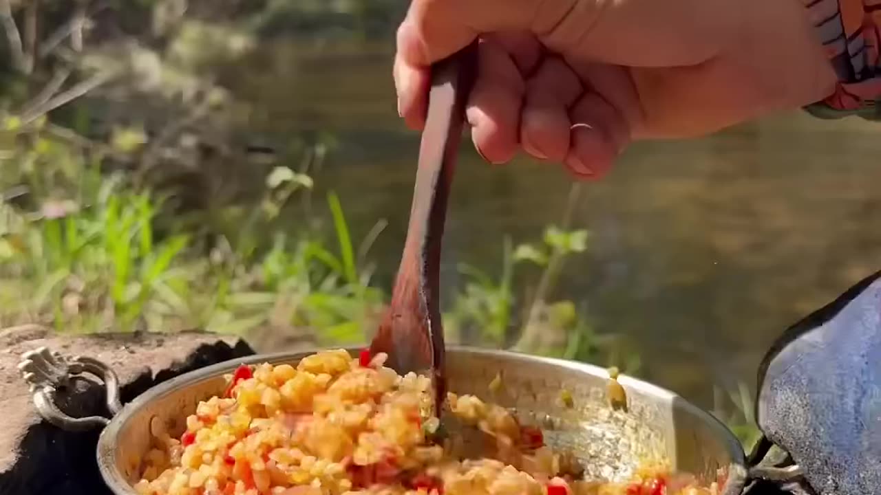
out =
[[(56, 139), (44, 123), (7, 120), (0, 132), (0, 327), (201, 328), (323, 345), (363, 342), (374, 328), (387, 294), (371, 285), (366, 258), (382, 224), (356, 248), (343, 202), (330, 193), (329, 234), (286, 232), (275, 220), (309, 193), (306, 174), (277, 166), (254, 203), (178, 217), (167, 207), (173, 198), (102, 173), (100, 157)], [(538, 240), (505, 239), (498, 275), (459, 265), (463, 288), (444, 314), (448, 340), (638, 375), (639, 355), (626, 342), (597, 333), (575, 301), (554, 298), (566, 261), (589, 247), (589, 233), (566, 228), (567, 217)], [(716, 395), (714, 414), (750, 447), (759, 431), (748, 389)]]

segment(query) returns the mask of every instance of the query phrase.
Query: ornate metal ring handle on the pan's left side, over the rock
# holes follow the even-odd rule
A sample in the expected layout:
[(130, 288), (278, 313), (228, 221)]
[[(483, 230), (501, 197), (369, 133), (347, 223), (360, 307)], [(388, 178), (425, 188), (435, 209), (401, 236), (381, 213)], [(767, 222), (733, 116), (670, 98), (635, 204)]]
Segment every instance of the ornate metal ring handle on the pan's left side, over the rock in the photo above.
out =
[(107, 410), (116, 415), (122, 409), (119, 400), (119, 379), (116, 373), (95, 358), (75, 356), (67, 358), (58, 352), (41, 347), (22, 354), (19, 372), (30, 386), (33, 405), (40, 416), (63, 430), (81, 432), (103, 428), (110, 423), (107, 417), (70, 417), (56, 405), (56, 395), (70, 388), (76, 377), (92, 375), (101, 380), (107, 395)]

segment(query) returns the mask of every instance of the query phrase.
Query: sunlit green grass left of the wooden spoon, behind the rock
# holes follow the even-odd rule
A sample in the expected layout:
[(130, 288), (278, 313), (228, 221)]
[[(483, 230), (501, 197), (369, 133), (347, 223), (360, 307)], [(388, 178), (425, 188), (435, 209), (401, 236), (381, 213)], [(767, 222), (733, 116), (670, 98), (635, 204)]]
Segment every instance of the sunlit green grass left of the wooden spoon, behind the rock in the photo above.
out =
[(336, 195), (327, 198), (329, 239), (315, 229), (258, 239), (298, 191), (311, 188), (307, 176), (276, 167), (267, 194), (239, 208), (248, 217), (236, 235), (196, 231), (192, 218), (175, 222), (169, 198), (102, 174), (100, 158), (41, 126), (7, 122), (4, 129), (0, 324), (240, 335), (271, 327), (311, 332), (324, 343), (365, 338), (383, 295), (359, 267)]

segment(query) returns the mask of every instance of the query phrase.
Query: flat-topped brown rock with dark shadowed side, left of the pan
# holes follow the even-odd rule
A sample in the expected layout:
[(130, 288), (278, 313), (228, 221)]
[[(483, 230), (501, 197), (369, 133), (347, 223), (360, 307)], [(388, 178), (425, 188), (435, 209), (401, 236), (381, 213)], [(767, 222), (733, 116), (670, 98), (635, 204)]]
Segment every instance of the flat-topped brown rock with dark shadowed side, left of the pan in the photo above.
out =
[[(99, 358), (122, 385), (122, 403), (181, 373), (254, 353), (244, 341), (199, 331), (178, 334), (62, 336), (25, 325), (0, 331), (0, 495), (104, 495), (95, 461), (100, 432), (64, 432), (37, 416), (19, 376), (21, 354), (41, 346)], [(107, 415), (102, 389), (88, 380), (59, 404), (71, 416)]]

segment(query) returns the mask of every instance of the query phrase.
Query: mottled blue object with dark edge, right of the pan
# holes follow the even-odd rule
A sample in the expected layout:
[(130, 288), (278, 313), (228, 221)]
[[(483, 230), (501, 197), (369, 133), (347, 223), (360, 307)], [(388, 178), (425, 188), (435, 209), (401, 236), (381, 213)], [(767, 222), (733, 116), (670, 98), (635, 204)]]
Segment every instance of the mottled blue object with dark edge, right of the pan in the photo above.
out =
[(788, 452), (813, 491), (881, 493), (881, 272), (774, 343), (756, 419), (765, 447)]

